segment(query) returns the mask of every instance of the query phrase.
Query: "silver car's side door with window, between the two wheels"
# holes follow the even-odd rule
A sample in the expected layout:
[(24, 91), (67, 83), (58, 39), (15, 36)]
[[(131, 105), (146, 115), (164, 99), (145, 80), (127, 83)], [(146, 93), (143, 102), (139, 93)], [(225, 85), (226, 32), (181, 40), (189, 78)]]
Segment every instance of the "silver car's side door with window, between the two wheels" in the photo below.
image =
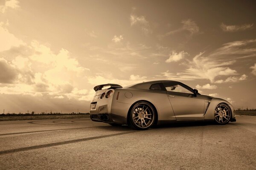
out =
[(192, 88), (180, 82), (163, 85), (177, 120), (204, 119), (205, 102), (201, 95), (194, 96)]

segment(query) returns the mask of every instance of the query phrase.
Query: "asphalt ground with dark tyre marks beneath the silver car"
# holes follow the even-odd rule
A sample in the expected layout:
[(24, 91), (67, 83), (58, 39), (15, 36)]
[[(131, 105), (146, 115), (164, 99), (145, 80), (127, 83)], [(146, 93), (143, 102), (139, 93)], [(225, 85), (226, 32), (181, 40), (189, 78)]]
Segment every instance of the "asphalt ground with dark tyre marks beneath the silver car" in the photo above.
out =
[(84, 119), (0, 122), (0, 170), (254, 170), (256, 116), (132, 130)]

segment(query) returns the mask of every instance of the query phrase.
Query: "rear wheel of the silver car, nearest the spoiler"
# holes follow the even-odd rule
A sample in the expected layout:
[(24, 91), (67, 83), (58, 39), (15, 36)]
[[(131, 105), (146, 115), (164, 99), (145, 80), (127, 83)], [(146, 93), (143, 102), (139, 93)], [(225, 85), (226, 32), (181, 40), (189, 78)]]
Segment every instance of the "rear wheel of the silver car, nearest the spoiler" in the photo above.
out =
[(148, 102), (137, 102), (130, 112), (130, 123), (138, 130), (146, 130), (154, 124), (156, 113)]

